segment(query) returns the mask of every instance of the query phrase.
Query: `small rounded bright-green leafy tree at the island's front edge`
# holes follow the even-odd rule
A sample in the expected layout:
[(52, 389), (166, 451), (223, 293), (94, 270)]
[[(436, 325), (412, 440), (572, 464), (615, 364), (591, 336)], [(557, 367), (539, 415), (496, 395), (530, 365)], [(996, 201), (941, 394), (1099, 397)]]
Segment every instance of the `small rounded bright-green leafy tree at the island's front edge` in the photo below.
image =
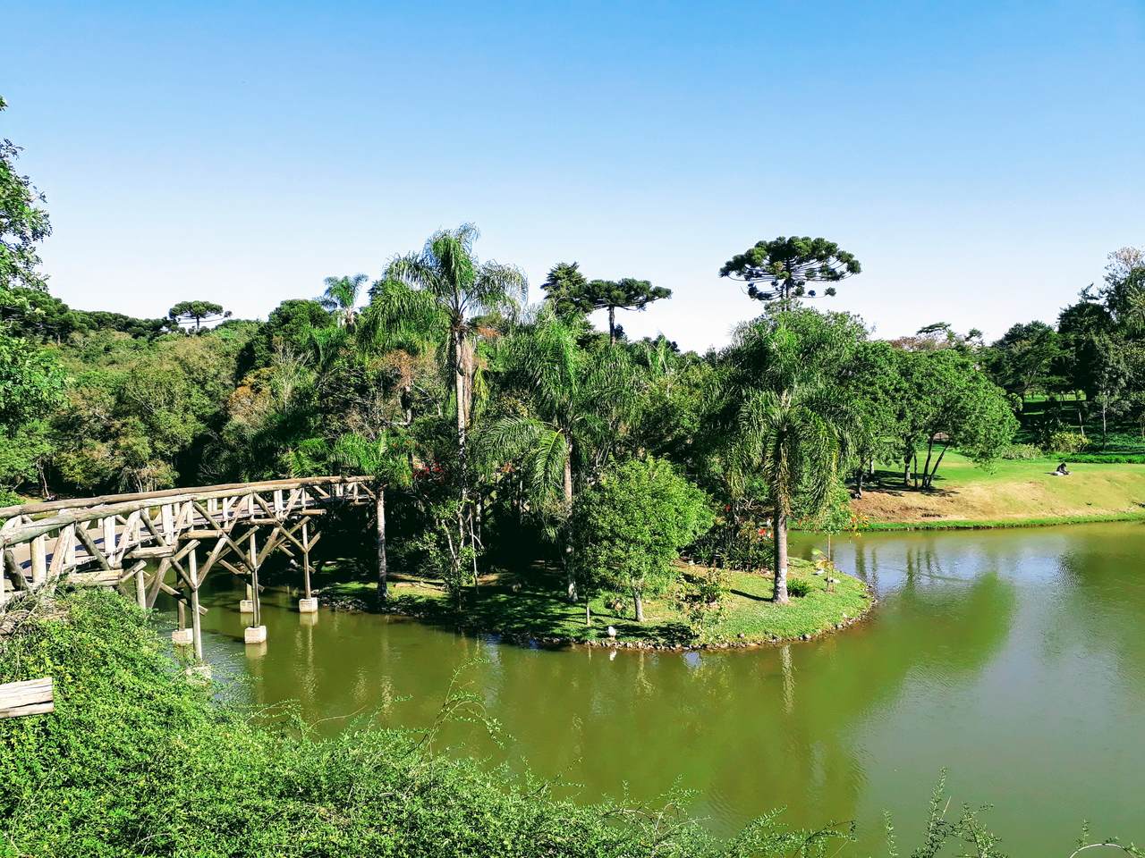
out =
[(574, 507), (578, 579), (592, 589), (630, 591), (638, 601), (645, 591), (663, 591), (680, 550), (711, 523), (704, 493), (671, 464), (623, 462)]

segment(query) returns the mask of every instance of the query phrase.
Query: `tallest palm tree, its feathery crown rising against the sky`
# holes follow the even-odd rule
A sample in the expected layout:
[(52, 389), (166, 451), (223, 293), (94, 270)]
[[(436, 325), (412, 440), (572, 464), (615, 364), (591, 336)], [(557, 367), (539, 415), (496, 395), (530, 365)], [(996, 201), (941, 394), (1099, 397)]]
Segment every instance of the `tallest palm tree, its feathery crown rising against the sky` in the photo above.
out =
[(457, 406), (457, 468), (460, 507), (459, 533), (464, 530), (468, 492), (466, 444), (476, 372), (474, 318), (483, 313), (515, 311), (528, 293), (524, 273), (498, 262), (479, 262), (473, 253), (477, 228), (472, 223), (435, 232), (420, 253), (398, 256), (386, 270), (386, 281), (405, 285), (392, 294), (390, 312), (409, 315), (425, 328), (447, 337), (447, 364)]

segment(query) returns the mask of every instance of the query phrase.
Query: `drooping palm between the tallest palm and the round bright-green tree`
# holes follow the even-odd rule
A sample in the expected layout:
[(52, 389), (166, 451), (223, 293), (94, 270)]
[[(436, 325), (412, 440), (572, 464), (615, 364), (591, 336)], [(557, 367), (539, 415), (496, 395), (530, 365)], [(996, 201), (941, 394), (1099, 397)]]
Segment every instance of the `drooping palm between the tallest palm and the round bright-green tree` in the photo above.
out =
[(568, 529), (574, 490), (603, 467), (631, 422), (641, 383), (623, 348), (578, 345), (585, 323), (562, 323), (552, 309), (499, 343), (495, 367), (506, 387), (528, 396), (526, 414), (490, 422), (477, 438), (485, 461), (513, 461), (531, 505), (562, 534), (568, 597), (577, 598)]

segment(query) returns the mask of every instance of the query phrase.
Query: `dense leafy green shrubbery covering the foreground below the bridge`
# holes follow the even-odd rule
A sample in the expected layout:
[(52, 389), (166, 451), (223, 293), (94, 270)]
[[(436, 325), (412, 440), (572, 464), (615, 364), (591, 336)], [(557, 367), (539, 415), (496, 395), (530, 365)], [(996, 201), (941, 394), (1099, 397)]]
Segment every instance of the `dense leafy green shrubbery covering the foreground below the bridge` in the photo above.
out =
[(717, 842), (671, 811), (552, 801), (421, 732), (318, 740), (215, 702), (168, 649), (90, 590), (0, 638), (0, 681), (56, 681), (54, 713), (0, 720), (0, 856), (791, 855), (810, 836), (763, 823)]

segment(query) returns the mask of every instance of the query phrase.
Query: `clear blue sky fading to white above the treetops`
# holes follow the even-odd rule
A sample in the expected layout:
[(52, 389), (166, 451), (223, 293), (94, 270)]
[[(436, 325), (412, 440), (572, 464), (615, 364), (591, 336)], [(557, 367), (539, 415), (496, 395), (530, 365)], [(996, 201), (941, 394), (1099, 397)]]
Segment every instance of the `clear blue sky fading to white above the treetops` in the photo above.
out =
[(877, 335), (1052, 320), (1145, 244), (1145, 0), (7, 5), (0, 136), (84, 309), (266, 317), (441, 227), (545, 272), (674, 291), (704, 348), (759, 311), (720, 264), (822, 235)]

